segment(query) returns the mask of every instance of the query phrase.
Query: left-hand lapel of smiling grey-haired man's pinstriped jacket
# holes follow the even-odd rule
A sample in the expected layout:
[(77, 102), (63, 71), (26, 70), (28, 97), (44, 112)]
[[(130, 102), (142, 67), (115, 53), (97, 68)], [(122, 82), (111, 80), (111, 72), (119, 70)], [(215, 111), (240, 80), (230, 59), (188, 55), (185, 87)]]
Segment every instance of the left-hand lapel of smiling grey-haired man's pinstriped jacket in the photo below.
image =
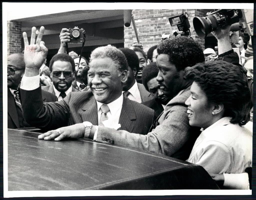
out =
[(90, 121), (93, 125), (98, 125), (97, 103), (93, 96), (86, 104), (84, 104), (82, 110), (84, 110), (82, 114), (83, 121)]

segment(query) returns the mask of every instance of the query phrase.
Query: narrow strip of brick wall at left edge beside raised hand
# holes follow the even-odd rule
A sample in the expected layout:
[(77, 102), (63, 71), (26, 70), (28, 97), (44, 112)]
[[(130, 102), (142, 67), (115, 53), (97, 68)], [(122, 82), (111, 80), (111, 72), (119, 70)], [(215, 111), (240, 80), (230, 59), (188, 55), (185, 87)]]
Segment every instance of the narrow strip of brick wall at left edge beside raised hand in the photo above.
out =
[(7, 21), (7, 55), (21, 52), (21, 23)]

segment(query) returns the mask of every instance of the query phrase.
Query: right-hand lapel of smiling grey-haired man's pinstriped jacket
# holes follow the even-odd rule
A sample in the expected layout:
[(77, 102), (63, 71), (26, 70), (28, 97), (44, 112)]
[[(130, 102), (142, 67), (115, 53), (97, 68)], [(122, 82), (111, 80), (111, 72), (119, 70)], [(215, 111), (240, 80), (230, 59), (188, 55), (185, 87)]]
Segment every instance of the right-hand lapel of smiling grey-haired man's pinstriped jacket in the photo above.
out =
[(134, 124), (131, 120), (136, 120), (134, 107), (131, 104), (131, 101), (124, 97), (122, 110), (119, 117), (119, 124), (121, 124), (121, 129), (132, 132), (134, 129)]

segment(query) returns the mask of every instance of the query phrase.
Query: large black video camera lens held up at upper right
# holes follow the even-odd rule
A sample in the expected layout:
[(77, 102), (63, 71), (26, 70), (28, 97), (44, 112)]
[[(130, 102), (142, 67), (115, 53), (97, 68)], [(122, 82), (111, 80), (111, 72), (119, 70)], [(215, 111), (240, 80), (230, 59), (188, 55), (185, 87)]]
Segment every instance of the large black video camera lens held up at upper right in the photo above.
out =
[(225, 25), (227, 25), (227, 20), (226, 16), (222, 13), (215, 13), (207, 17), (195, 17), (193, 19), (194, 29), (201, 39), (205, 39), (210, 32)]

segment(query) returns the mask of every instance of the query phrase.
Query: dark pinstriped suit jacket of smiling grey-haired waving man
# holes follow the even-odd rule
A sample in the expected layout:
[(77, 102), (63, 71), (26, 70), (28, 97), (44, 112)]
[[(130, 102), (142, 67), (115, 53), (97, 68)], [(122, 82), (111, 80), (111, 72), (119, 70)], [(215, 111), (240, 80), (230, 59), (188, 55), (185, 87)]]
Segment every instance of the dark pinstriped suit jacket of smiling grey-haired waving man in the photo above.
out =
[[(54, 130), (83, 121), (98, 125), (97, 103), (91, 91), (70, 92), (65, 99), (43, 104), (39, 97), (41, 88), (26, 91), (20, 89), (24, 118), (28, 123), (44, 130)], [(122, 130), (147, 134), (155, 120), (154, 110), (124, 97), (119, 118)]]

